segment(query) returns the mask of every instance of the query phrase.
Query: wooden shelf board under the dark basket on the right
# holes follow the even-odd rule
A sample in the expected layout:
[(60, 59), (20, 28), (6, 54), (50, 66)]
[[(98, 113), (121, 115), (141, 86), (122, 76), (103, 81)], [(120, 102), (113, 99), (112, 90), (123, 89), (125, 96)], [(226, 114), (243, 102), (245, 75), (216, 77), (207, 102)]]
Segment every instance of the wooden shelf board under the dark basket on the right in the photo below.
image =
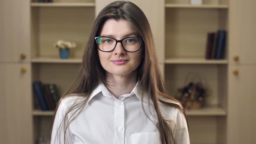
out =
[(226, 111), (218, 106), (207, 106), (198, 110), (187, 110), (186, 114), (188, 116), (225, 116)]

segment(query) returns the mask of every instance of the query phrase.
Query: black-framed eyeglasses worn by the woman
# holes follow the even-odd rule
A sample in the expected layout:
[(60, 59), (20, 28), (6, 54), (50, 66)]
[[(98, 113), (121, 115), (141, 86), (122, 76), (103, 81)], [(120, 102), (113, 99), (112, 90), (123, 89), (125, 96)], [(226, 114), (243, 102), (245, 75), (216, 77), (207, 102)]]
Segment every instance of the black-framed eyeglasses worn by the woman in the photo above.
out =
[(138, 36), (126, 37), (121, 40), (117, 40), (107, 36), (95, 37), (98, 49), (102, 52), (111, 52), (115, 49), (118, 42), (127, 52), (137, 52), (141, 48), (141, 38)]

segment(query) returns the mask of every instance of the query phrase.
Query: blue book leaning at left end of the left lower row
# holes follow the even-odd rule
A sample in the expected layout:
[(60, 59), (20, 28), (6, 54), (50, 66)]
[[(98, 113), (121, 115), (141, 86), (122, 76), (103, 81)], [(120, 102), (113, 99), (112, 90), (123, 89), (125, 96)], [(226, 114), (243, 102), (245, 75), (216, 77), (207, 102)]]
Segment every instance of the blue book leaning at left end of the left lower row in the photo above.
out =
[(39, 101), (42, 111), (48, 111), (49, 108), (48, 108), (48, 106), (46, 104), (46, 100), (44, 99), (44, 96), (43, 96), (42, 82), (40, 82), (40, 81), (33, 82), (33, 90), (34, 90), (34, 93)]

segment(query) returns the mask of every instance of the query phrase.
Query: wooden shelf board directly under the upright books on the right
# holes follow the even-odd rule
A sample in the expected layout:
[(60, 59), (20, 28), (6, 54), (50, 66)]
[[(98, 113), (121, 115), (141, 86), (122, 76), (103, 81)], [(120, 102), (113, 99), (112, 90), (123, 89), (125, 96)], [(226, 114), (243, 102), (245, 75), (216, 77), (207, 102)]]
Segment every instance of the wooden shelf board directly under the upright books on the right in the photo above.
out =
[(203, 58), (169, 58), (165, 59), (166, 64), (228, 64), (226, 59), (203, 59)]

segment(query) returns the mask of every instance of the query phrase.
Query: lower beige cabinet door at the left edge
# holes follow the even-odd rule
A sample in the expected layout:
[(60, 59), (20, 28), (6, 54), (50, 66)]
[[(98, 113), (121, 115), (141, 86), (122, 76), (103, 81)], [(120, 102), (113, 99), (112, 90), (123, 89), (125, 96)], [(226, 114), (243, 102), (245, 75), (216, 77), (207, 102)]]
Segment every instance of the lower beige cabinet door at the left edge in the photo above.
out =
[(30, 73), (30, 64), (0, 63), (1, 144), (32, 144)]

